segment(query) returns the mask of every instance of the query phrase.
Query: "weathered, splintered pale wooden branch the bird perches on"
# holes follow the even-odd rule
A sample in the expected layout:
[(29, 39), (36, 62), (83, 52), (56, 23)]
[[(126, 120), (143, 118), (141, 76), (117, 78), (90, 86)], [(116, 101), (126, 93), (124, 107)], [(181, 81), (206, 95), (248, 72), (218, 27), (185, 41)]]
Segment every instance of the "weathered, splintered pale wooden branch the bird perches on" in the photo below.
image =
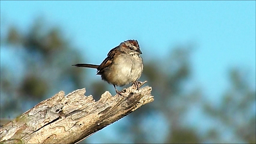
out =
[(122, 96), (105, 92), (97, 102), (85, 93), (61, 91), (42, 101), (1, 127), (0, 143), (77, 143), (154, 100), (148, 86), (133, 85)]

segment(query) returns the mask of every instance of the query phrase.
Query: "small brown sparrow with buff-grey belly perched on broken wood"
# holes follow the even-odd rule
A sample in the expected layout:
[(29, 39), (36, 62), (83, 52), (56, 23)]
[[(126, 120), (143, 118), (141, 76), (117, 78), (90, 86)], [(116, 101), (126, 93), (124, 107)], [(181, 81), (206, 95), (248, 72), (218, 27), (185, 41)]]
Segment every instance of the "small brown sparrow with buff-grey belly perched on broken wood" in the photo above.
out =
[(135, 84), (139, 89), (138, 79), (143, 72), (143, 58), (137, 40), (126, 40), (120, 45), (111, 49), (105, 60), (100, 65), (75, 64), (72, 66), (97, 69), (96, 75), (101, 75), (101, 79), (112, 84), (117, 94), (121, 94), (116, 86), (122, 87), (127, 84)]

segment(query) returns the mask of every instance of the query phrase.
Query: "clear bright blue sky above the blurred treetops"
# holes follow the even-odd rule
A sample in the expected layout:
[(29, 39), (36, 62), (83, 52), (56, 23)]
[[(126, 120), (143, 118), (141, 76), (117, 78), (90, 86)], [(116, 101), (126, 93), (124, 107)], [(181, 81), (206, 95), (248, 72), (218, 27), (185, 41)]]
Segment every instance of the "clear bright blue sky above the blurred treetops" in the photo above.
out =
[[(1, 1), (1, 36), (11, 25), (27, 30), (39, 16), (81, 48), (82, 63), (100, 64), (127, 39), (139, 41), (145, 61), (193, 44), (195, 87), (209, 99), (227, 88), (233, 66), (248, 70), (255, 87), (255, 1)], [(1, 64), (4, 57), (2, 49)]]

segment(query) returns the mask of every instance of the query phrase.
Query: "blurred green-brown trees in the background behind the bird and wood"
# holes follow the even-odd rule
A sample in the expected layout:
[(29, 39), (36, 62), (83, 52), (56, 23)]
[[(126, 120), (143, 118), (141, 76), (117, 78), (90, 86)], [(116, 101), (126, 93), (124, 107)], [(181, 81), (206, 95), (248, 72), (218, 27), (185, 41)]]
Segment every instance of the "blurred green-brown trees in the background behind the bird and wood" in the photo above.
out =
[[(91, 80), (86, 69), (71, 66), (86, 62), (89, 54), (80, 54), (58, 26), (49, 27), (39, 18), (27, 31), (12, 26), (1, 34), (1, 53), (10, 54), (8, 63), (1, 61), (1, 118), (15, 118), (60, 90), (68, 94), (86, 87), (86, 95), (96, 100), (106, 90), (115, 94), (99, 76)], [(97, 132), (100, 142), (255, 143), (255, 88), (250, 88), (249, 72), (227, 68), (230, 84), (221, 102), (211, 102), (202, 88), (193, 85), (194, 48), (173, 47), (168, 57), (144, 61), (140, 80), (148, 80), (154, 102), (114, 123), (111, 131), (116, 138), (106, 138), (106, 128)], [(99, 137), (81, 143), (93, 138)]]

